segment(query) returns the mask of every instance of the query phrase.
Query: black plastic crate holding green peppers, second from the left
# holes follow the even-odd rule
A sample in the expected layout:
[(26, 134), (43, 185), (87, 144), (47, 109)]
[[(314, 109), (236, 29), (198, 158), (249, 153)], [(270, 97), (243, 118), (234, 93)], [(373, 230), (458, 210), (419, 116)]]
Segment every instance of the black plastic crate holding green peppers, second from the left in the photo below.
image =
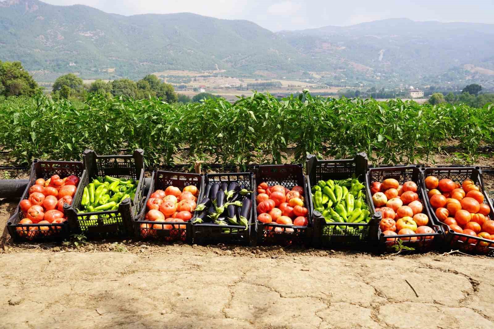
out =
[[(84, 151), (86, 175), (80, 182), (72, 206), (67, 207), (69, 225), (73, 233), (88, 238), (112, 238), (133, 235), (133, 218), (137, 217), (144, 201), (144, 151), (137, 149), (132, 155), (98, 156), (94, 151)], [(105, 175), (139, 180), (133, 200), (124, 200), (117, 210), (78, 213), (81, 209), (83, 188), (93, 178)]]

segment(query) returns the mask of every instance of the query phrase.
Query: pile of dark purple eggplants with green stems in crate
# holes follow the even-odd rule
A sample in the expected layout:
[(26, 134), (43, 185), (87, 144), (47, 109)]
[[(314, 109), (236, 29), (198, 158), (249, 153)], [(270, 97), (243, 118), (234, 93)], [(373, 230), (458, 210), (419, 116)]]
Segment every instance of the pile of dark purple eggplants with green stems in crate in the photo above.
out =
[(238, 182), (207, 185), (203, 200), (194, 210), (200, 211), (200, 214), (193, 223), (236, 225), (247, 229), (252, 193)]

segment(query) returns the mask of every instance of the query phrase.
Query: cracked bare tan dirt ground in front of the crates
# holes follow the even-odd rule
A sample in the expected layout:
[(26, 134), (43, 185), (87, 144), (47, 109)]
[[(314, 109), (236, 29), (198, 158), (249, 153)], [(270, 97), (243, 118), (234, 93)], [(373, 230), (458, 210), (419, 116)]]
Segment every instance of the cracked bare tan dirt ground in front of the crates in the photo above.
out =
[[(493, 192), (494, 176), (484, 178)], [(132, 240), (15, 245), (4, 227), (17, 203), (0, 200), (0, 329), (494, 328), (492, 258)]]

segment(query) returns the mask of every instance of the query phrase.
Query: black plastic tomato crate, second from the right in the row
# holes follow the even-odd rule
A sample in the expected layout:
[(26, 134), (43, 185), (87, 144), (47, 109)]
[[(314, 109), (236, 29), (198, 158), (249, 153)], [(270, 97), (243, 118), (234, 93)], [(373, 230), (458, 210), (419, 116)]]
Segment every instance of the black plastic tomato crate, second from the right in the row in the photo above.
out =
[[(429, 207), (424, 199), (424, 190), (422, 189), (422, 179), (420, 177), (420, 168), (415, 165), (408, 166), (394, 166), (394, 167), (379, 167), (379, 168), (369, 168), (366, 174), (366, 188), (367, 188), (367, 197), (369, 200), (372, 200), (371, 196), (371, 184), (373, 182), (382, 183), (385, 179), (394, 178), (400, 184), (403, 184), (407, 181), (412, 181), (417, 184), (417, 194), (418, 201), (422, 203), (423, 209), (422, 213), (426, 214), (429, 218), (429, 226), (434, 230), (434, 233), (428, 234), (407, 234), (407, 235), (392, 235), (385, 236), (380, 227), (378, 227), (378, 250), (380, 252), (393, 252), (396, 251), (396, 247), (393, 247), (398, 244), (399, 240), (402, 241), (403, 246), (412, 247), (415, 252), (427, 252), (433, 249), (436, 249), (441, 242), (442, 239), (442, 228), (437, 225), (437, 221), (435, 221), (434, 217), (431, 216), (429, 211)], [(372, 202), (371, 204), (371, 213), (375, 212), (375, 206)]]

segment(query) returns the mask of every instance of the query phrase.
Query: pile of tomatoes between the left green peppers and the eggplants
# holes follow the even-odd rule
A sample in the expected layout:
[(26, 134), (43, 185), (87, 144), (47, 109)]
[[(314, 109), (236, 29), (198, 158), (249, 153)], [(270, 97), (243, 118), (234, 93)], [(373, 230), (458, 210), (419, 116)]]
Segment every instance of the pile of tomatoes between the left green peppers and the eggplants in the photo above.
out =
[(154, 191), (146, 203), (145, 220), (156, 224), (143, 223), (140, 225), (142, 238), (157, 235), (156, 230), (170, 230), (170, 236), (165, 240), (172, 240), (179, 236), (179, 229), (186, 230), (186, 225), (162, 224), (165, 222), (181, 223), (190, 221), (197, 206), (199, 190), (190, 185), (180, 191), (178, 187), (168, 186), (165, 191)]

